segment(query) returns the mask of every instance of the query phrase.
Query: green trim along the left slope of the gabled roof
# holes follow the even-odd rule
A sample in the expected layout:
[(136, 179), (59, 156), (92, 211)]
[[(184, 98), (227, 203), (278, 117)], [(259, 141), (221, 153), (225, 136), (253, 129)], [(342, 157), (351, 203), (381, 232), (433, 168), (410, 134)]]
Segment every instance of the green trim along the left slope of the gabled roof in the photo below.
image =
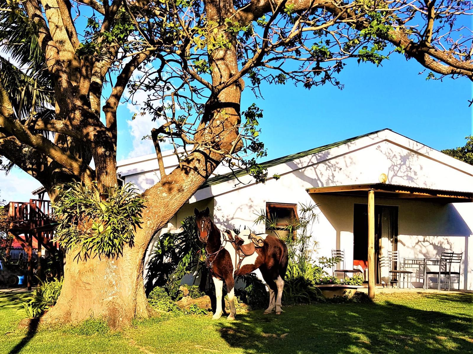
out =
[[(368, 134), (358, 135), (358, 136), (352, 137), (350, 139), (345, 139), (345, 140), (342, 140), (342, 141), (339, 141), (339, 142), (336, 142), (336, 143), (331, 143), (331, 144), (328, 144), (328, 145), (319, 146), (319, 147), (316, 147), (314, 149), (310, 149), (310, 150), (306, 150), (306, 151), (302, 151), (302, 152), (296, 152), (296, 153), (291, 154), (291, 155), (287, 155), (287, 156), (279, 157), (277, 159), (262, 162), (260, 165), (263, 167), (263, 169), (269, 169), (270, 167), (280, 165), (281, 163), (286, 163), (286, 162), (296, 160), (296, 159), (300, 159), (302, 157), (312, 155), (312, 154), (315, 154), (315, 153), (318, 153), (318, 152), (323, 152), (325, 150), (329, 150), (329, 149), (332, 149), (332, 148), (337, 147), (337, 146), (341, 146), (341, 145), (346, 144), (346, 143), (354, 142), (355, 140), (364, 138), (366, 136), (377, 134), (377, 133), (382, 132), (384, 130), (391, 130), (391, 129), (388, 129), (388, 128), (380, 129), (380, 130), (377, 130), (376, 132), (371, 132), (371, 133), (368, 133)], [(201, 185), (200, 189), (210, 187), (211, 185), (218, 185), (219, 183), (230, 181), (232, 179), (245, 176), (247, 174), (248, 174), (248, 172), (245, 169), (239, 169), (239, 170), (236, 170), (236, 171), (228, 172), (224, 175), (210, 177), (203, 185)]]

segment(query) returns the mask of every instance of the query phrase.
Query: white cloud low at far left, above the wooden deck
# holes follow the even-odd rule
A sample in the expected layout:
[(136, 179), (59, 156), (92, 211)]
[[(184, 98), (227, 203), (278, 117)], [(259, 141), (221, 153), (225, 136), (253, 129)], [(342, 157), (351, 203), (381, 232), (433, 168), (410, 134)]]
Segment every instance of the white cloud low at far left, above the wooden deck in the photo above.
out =
[(39, 183), (35, 178), (26, 172), (14, 167), (8, 175), (0, 171), (0, 200), (7, 202), (28, 202), (37, 196), (31, 194), (39, 188)]

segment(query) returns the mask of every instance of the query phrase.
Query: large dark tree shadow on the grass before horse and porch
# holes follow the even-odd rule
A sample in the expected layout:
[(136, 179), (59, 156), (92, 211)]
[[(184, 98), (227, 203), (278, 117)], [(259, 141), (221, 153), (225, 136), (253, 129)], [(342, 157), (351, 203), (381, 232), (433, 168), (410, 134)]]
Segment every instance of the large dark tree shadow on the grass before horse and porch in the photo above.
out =
[(224, 322), (221, 337), (245, 353), (473, 353), (470, 315), (390, 302), (286, 307)]

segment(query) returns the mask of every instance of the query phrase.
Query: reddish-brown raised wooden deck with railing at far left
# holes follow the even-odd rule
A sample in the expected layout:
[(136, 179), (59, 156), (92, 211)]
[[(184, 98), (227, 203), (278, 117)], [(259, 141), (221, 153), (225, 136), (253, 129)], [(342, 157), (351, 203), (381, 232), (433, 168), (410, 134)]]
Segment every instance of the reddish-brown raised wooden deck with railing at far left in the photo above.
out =
[[(28, 256), (28, 290), (33, 283), (33, 238), (38, 244), (38, 260), (36, 275), (42, 278), (41, 262), (42, 248), (51, 254), (60, 253), (59, 245), (53, 242), (54, 220), (51, 202), (47, 200), (30, 199), (29, 202), (9, 202), (7, 222), (8, 232), (11, 233), (23, 247)], [(58, 273), (60, 273), (59, 270)]]

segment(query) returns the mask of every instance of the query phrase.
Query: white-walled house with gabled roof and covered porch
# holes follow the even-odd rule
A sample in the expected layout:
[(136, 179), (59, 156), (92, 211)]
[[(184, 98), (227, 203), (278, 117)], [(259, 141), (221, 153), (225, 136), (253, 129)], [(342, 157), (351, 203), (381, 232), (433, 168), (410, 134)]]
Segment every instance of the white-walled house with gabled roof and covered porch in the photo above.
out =
[[(177, 160), (169, 154), (164, 163), (171, 170)], [(156, 237), (178, 228), (194, 208), (208, 206), (222, 229), (246, 226), (265, 232), (264, 225), (254, 225), (255, 214), (262, 210), (284, 218), (294, 216), (300, 203), (316, 204), (318, 219), (312, 234), (318, 243), (317, 256), (344, 250), (345, 268), (352, 268), (367, 260), (368, 191), (374, 191), (376, 259), (387, 250), (398, 250), (402, 258), (463, 253), (455, 269), (460, 269), (460, 289), (473, 289), (473, 166), (390, 129), (263, 166), (268, 176), (277, 174), (280, 179), (256, 184), (245, 171), (227, 173), (227, 168), (219, 167)], [(154, 155), (120, 161), (117, 173), (142, 191), (159, 180)], [(387, 270), (376, 269), (376, 280), (382, 282)], [(423, 271), (416, 272), (412, 285), (421, 287)]]

